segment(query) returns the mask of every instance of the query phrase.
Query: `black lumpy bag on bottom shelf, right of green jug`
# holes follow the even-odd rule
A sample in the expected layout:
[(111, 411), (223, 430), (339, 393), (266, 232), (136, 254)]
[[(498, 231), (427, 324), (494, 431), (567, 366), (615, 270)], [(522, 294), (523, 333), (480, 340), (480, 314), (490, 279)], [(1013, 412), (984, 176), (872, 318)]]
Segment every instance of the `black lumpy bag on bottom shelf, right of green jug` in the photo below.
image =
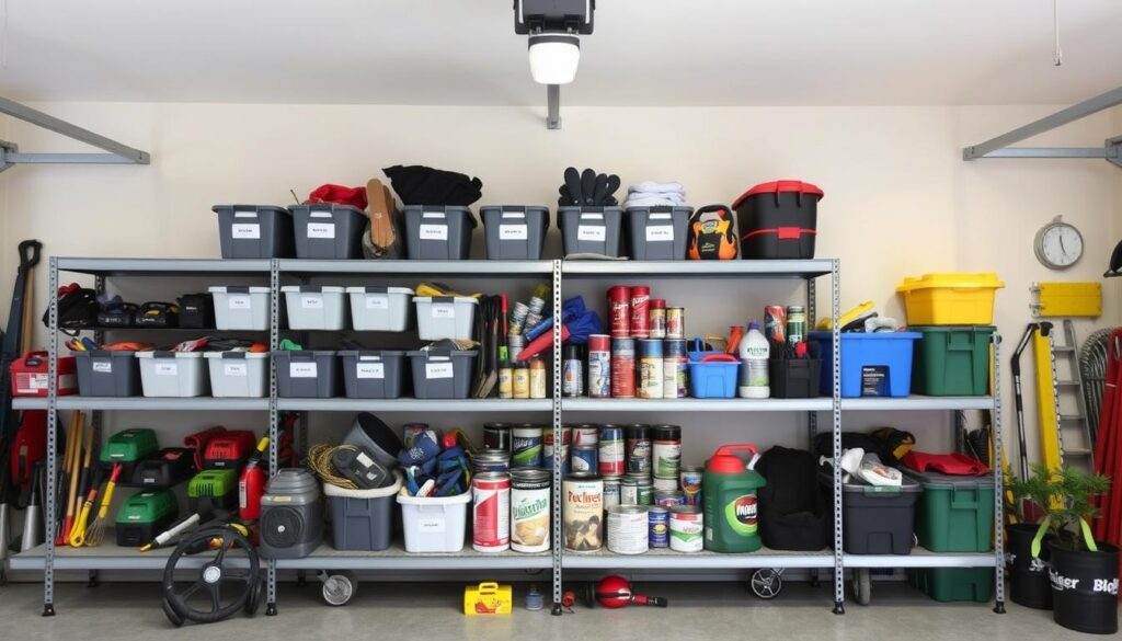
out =
[(767, 479), (760, 488), (760, 537), (772, 550), (812, 551), (828, 542), (827, 512), (818, 487), (818, 464), (806, 450), (775, 446), (764, 452), (756, 471)]

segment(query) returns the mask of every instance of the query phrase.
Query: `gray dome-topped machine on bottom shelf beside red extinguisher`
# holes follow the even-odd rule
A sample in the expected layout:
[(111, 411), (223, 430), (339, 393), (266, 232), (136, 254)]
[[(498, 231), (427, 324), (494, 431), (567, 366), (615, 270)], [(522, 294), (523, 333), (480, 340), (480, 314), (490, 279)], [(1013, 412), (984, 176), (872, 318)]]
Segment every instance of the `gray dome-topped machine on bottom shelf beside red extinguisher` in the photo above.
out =
[(282, 469), (269, 479), (261, 497), (258, 551), (270, 559), (300, 559), (322, 539), (320, 483), (306, 469)]

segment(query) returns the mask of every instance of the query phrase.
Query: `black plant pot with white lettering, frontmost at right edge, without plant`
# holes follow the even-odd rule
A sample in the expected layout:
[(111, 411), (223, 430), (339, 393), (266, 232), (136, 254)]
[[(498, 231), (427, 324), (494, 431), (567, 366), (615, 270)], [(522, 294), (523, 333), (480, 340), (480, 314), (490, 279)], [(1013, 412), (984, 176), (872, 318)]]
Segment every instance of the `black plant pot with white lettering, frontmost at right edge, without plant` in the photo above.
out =
[(1073, 551), (1052, 541), (1052, 619), (1068, 630), (1114, 634), (1119, 630), (1119, 550)]

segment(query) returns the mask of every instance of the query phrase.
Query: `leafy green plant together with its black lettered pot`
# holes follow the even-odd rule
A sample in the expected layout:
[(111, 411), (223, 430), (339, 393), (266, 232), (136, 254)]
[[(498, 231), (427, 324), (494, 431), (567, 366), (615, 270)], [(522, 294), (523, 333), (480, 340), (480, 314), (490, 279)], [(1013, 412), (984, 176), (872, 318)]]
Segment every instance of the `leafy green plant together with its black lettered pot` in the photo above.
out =
[(1091, 533), (1091, 520), (1098, 513), (1094, 500), (1110, 489), (1111, 479), (1073, 467), (1052, 470), (1037, 465), (1024, 483), (1023, 495), (1045, 511), (1032, 540), (1033, 558), (1040, 558), (1045, 539), (1050, 537), (1052, 619), (1069, 630), (1114, 634), (1119, 629), (1119, 551), (1095, 541)]

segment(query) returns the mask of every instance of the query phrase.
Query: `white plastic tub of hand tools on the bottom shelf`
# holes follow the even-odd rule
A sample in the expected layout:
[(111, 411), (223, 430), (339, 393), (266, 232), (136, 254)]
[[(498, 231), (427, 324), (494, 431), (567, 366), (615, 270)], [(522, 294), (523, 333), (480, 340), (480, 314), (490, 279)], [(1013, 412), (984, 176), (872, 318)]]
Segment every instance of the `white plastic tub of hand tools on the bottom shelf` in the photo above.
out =
[(471, 492), (458, 496), (403, 496), (402, 524), (406, 552), (459, 552), (467, 539)]

